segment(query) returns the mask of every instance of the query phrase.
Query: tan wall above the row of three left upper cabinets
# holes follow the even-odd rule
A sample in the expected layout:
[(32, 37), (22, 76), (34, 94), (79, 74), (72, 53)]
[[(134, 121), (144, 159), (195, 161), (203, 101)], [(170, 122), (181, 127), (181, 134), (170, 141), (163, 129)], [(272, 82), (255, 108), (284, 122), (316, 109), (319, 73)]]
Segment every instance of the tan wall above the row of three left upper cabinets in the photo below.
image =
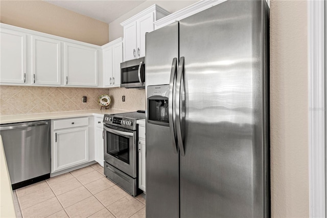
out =
[(0, 1), (0, 22), (102, 46), (109, 26), (44, 1)]

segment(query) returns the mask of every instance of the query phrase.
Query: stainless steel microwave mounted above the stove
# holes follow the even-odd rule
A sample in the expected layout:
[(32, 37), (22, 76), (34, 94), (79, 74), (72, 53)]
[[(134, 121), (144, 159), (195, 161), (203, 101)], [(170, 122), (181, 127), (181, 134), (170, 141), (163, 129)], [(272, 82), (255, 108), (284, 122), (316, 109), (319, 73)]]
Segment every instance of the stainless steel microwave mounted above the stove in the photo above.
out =
[(121, 87), (145, 89), (145, 57), (121, 63)]

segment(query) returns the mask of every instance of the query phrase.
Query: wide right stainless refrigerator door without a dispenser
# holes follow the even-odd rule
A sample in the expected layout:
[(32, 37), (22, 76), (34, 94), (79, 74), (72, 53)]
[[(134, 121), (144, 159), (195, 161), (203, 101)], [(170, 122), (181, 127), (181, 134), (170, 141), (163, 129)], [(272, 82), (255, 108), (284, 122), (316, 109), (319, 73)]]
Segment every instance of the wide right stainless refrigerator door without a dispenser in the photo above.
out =
[(180, 217), (267, 215), (263, 4), (227, 1), (180, 20)]

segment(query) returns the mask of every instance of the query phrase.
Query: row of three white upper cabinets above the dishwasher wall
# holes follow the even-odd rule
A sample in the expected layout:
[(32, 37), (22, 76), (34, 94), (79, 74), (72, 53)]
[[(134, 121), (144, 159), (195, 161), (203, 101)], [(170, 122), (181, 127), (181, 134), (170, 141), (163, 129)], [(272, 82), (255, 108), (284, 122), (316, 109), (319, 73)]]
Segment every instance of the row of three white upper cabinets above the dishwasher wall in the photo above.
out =
[(0, 24), (0, 34), (2, 85), (97, 87), (98, 80), (102, 84), (100, 46), (6, 24)]

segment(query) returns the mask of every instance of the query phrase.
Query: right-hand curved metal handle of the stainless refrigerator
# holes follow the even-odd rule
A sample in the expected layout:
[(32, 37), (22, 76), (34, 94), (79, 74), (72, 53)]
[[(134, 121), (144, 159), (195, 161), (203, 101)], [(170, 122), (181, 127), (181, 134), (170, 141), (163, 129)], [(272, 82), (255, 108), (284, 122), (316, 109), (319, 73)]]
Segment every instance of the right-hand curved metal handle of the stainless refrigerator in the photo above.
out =
[(182, 98), (181, 98), (181, 86), (182, 86), (182, 78), (184, 73), (184, 57), (180, 57), (178, 73), (177, 73), (177, 82), (176, 82), (176, 130), (177, 130), (177, 139), (179, 152), (181, 156), (185, 156), (184, 143), (182, 137), (182, 123), (181, 116), (183, 112)]

